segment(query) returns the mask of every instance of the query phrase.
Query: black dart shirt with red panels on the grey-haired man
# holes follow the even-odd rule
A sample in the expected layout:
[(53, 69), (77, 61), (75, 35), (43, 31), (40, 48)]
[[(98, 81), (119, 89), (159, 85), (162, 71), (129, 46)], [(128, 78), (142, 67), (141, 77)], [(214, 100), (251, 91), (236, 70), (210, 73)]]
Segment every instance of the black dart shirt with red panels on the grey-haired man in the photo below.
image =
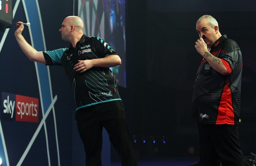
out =
[(194, 83), (193, 109), (195, 118), (205, 124), (238, 124), (242, 56), (238, 44), (221, 36), (210, 53), (220, 58), (229, 71), (222, 75), (203, 59)]

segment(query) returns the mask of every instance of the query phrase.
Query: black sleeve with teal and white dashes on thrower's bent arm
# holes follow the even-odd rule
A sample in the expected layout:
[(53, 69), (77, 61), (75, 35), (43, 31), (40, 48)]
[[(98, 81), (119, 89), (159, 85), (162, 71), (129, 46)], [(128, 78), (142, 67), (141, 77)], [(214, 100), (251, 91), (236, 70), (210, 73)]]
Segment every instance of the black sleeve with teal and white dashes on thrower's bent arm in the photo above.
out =
[(103, 39), (99, 37), (93, 37), (93, 43), (97, 54), (103, 58), (109, 55), (117, 55), (117, 52), (108, 45)]

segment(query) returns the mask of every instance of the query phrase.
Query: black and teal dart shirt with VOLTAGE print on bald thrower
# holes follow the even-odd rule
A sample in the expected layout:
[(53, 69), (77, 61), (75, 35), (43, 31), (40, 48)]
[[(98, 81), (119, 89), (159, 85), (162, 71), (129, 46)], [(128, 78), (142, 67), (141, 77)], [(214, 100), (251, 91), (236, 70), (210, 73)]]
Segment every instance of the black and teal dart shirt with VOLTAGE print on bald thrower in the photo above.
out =
[(92, 67), (79, 73), (73, 70), (78, 60), (91, 60), (117, 54), (103, 39), (83, 35), (74, 49), (45, 51), (46, 65), (62, 65), (72, 85), (77, 110), (102, 102), (121, 100), (117, 81), (110, 68)]

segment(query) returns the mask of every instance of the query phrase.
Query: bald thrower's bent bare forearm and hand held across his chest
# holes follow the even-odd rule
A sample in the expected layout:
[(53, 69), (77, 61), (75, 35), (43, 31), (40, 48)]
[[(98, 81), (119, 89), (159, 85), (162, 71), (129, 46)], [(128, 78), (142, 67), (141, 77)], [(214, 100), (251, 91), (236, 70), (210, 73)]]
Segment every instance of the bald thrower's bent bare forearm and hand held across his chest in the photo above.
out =
[(104, 58), (92, 60), (78, 60), (74, 65), (74, 70), (83, 73), (91, 67), (114, 67), (121, 64), (121, 58), (118, 55), (109, 55)]

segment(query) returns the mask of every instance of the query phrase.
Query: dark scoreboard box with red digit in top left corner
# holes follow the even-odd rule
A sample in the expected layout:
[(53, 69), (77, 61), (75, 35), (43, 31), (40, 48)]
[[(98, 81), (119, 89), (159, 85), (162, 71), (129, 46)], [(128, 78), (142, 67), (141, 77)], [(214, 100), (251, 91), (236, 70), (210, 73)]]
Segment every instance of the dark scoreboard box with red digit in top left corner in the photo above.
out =
[(0, 0), (0, 27), (12, 27), (12, 0)]

